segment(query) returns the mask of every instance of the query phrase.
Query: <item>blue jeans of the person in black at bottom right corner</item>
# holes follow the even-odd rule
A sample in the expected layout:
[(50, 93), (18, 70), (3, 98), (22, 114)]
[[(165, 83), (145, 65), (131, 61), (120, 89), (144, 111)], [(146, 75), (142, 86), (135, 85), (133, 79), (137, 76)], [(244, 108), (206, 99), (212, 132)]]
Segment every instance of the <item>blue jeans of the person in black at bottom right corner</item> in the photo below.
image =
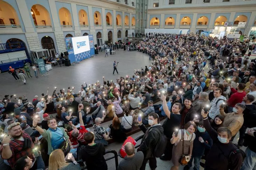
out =
[(256, 153), (246, 148), (245, 154), (246, 157), (240, 170), (256, 170)]

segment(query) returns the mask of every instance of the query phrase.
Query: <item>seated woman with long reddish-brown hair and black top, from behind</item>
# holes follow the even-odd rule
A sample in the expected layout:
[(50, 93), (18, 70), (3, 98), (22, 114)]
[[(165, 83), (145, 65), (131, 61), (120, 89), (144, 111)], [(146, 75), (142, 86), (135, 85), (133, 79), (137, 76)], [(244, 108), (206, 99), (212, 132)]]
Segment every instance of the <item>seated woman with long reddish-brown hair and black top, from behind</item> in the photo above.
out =
[(123, 132), (123, 128), (120, 120), (117, 116), (113, 118), (110, 128), (110, 137), (112, 137), (117, 142), (123, 142), (126, 139), (126, 134)]

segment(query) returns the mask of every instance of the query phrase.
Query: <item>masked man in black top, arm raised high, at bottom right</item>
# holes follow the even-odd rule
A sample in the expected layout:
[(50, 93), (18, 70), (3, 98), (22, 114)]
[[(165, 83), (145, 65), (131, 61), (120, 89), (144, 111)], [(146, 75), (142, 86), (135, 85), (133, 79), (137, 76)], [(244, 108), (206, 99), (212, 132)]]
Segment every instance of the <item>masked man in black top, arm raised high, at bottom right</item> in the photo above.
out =
[(208, 113), (205, 113), (204, 109), (201, 111), (204, 128), (213, 140), (213, 145), (205, 158), (205, 169), (240, 170), (243, 163), (242, 154), (230, 154), (238, 149), (231, 141), (231, 131), (226, 127), (220, 127), (215, 131), (210, 125)]

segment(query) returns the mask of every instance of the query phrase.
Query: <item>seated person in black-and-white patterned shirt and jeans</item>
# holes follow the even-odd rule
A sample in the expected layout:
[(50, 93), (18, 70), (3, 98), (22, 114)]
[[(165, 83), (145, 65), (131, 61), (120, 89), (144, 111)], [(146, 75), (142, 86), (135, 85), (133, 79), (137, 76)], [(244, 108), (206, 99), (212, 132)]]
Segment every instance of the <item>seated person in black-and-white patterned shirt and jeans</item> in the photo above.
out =
[[(105, 116), (105, 115), (103, 115)], [(95, 119), (95, 124), (93, 125), (93, 129), (95, 132), (95, 143), (102, 143), (104, 146), (108, 145), (108, 141), (106, 141), (105, 139), (109, 138), (109, 131), (110, 128), (107, 128), (105, 130), (105, 128), (103, 126), (101, 126), (102, 120), (101, 118), (96, 118)]]

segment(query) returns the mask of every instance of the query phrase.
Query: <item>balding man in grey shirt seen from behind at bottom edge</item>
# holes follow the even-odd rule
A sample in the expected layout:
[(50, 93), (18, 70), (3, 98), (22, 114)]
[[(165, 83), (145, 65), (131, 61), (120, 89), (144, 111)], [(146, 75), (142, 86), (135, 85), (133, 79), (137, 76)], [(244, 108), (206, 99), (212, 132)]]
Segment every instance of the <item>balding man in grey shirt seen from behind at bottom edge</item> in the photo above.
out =
[(139, 170), (144, 159), (143, 152), (135, 153), (135, 147), (131, 142), (125, 144), (125, 152), (127, 155), (119, 163), (117, 170)]

